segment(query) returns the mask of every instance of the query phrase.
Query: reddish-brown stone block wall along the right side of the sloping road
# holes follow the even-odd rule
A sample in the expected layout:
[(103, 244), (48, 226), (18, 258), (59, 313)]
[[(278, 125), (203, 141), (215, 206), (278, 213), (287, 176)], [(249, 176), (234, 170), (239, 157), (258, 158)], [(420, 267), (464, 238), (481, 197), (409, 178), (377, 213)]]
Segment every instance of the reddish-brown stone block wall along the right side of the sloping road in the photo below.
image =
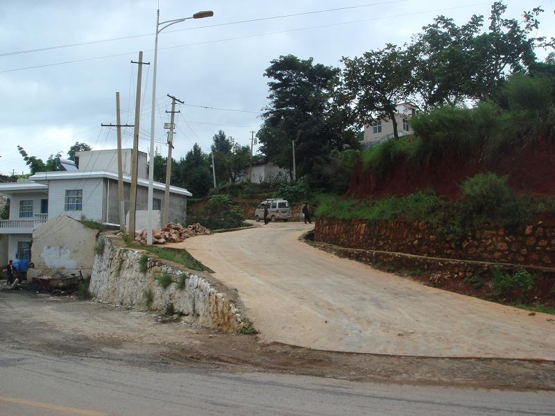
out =
[(424, 223), (318, 218), (314, 241), (344, 248), (523, 266), (552, 267), (555, 262), (555, 227), (541, 222), (515, 232), (483, 225), (466, 239), (452, 241)]

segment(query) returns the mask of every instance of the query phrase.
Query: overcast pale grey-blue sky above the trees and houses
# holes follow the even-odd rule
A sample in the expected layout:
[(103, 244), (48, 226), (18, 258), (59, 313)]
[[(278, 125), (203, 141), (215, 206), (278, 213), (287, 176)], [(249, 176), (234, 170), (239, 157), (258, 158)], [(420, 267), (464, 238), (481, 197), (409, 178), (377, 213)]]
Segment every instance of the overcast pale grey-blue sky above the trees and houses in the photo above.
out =
[[(506, 17), (515, 18), (523, 10), (542, 6), (545, 13), (535, 35), (555, 33), (554, 0), (506, 3)], [(65, 154), (76, 141), (94, 149), (115, 148), (115, 130), (101, 128), (101, 123), (115, 123), (119, 91), (122, 121), (133, 124), (137, 65), (130, 60), (144, 51), (144, 61), (153, 61), (157, 4), (157, 0), (0, 2), (0, 173), (28, 172), (17, 145), (44, 160), (58, 151)], [(351, 6), (363, 7), (317, 12)], [(257, 113), (267, 103), (264, 70), (280, 55), (314, 57), (315, 62), (338, 66), (342, 56), (361, 55), (386, 42), (409, 41), (436, 15), (453, 17), (456, 24), (472, 14), (487, 17), (490, 2), (160, 0), (161, 21), (199, 10), (214, 10), (214, 17), (176, 24), (159, 38), (155, 145), (167, 153), (163, 129), (163, 122), (169, 121), (167, 94), (177, 96), (185, 105), (179, 107), (176, 158), (185, 156), (195, 142), (209, 152), (212, 135), (219, 129), (250, 144), (250, 130), (256, 132), (261, 122)], [(305, 14), (279, 17), (300, 13)], [(276, 18), (249, 21), (265, 17)], [(111, 40), (117, 37), (130, 38)], [(101, 40), (111, 41), (51, 48)], [(19, 53), (34, 49), (47, 50)], [(541, 58), (546, 54), (538, 51)], [(105, 58), (108, 55), (118, 56)], [(67, 61), (80, 62), (58, 64)], [(139, 148), (144, 151), (150, 137), (151, 67), (143, 67)], [(123, 146), (133, 146), (132, 138), (133, 129), (127, 129)]]

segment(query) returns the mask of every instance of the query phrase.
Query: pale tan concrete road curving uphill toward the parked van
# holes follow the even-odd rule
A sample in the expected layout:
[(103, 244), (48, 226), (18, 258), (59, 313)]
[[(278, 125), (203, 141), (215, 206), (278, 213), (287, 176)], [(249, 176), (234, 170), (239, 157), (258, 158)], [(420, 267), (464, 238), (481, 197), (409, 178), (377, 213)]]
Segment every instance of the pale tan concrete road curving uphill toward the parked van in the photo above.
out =
[(262, 340), (414, 356), (555, 360), (552, 315), (423, 286), (298, 241), (303, 223), (197, 236), (186, 248), (237, 288)]

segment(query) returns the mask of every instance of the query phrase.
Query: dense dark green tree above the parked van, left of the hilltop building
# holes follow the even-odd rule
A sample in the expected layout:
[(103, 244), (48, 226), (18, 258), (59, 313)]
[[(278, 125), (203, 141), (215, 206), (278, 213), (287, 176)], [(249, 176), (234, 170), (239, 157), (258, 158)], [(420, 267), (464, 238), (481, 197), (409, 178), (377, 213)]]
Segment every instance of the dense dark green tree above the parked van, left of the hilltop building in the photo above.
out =
[(310, 173), (314, 157), (325, 157), (333, 148), (355, 145), (345, 119), (337, 116), (332, 97), (339, 80), (339, 69), (314, 64), (294, 55), (271, 61), (264, 75), (270, 104), (263, 114), (258, 132), (261, 152), (274, 164), (293, 171), (293, 144), (296, 147), (298, 176)]

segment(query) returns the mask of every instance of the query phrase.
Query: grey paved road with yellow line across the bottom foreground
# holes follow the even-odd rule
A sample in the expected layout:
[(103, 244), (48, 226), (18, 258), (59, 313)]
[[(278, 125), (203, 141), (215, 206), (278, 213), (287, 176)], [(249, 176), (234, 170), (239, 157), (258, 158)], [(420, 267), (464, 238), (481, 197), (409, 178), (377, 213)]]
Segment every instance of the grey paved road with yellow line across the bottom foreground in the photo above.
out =
[(553, 415), (553, 392), (411, 387), (0, 351), (0, 415)]

